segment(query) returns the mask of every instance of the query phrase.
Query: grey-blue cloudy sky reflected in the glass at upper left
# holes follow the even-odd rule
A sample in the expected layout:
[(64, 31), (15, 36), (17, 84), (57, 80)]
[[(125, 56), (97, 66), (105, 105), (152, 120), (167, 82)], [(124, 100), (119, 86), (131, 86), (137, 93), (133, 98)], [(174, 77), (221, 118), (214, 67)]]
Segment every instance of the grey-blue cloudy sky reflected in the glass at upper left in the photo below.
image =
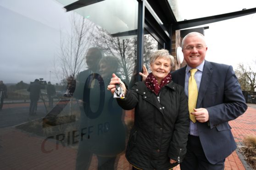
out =
[(0, 0), (0, 79), (59, 82), (54, 62), (70, 18), (54, 0)]

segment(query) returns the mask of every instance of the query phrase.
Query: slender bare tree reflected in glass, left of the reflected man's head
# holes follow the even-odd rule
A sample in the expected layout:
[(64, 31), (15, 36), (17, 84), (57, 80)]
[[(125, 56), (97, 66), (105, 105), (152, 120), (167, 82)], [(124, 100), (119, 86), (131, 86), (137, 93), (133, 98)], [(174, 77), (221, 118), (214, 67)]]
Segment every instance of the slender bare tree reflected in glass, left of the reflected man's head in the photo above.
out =
[[(84, 17), (72, 18), (71, 32), (64, 36), (61, 32), (59, 64), (63, 77), (76, 75), (85, 65), (84, 56), (91, 42), (94, 24)], [(65, 34), (66, 35), (66, 34)]]

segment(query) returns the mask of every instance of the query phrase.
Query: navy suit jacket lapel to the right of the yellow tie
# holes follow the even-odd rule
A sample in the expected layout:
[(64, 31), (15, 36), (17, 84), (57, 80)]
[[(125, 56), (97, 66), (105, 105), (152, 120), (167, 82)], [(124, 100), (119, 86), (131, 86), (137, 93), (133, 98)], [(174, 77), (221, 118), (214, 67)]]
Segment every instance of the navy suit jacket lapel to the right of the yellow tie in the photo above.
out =
[(205, 96), (206, 90), (211, 80), (213, 68), (210, 62), (205, 60), (204, 70), (201, 78), (200, 89), (198, 91), (196, 108), (201, 107), (201, 103), (203, 101), (203, 97)]

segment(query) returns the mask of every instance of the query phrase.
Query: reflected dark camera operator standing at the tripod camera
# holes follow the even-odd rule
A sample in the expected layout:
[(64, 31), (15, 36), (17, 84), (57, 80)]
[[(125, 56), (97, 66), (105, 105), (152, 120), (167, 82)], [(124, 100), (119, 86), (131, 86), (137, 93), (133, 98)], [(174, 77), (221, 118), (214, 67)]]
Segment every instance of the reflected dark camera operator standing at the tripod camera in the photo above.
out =
[(42, 89), (42, 85), (38, 79), (34, 80), (34, 82), (31, 82), (28, 87), (28, 91), (30, 92), (29, 116), (36, 115), (37, 101), (39, 100), (40, 89)]

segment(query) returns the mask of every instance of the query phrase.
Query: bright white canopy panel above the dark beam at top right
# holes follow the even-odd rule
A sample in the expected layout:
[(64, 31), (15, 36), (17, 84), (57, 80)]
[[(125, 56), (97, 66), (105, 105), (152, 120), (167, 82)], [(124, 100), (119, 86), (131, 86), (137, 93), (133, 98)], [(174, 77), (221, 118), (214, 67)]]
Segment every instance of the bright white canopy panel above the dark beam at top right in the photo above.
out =
[(255, 0), (168, 0), (177, 21), (215, 16), (256, 7)]

